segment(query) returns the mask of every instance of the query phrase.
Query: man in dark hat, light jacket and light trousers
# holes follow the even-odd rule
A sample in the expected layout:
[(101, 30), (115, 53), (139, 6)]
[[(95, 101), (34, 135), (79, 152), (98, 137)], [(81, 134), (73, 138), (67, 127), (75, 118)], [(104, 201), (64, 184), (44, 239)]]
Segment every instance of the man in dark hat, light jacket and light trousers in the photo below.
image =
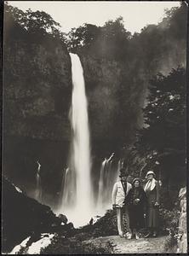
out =
[[(125, 169), (120, 169), (119, 177), (120, 181), (115, 183), (112, 189), (112, 207), (113, 209), (117, 210), (117, 230), (119, 236), (126, 236), (130, 239), (131, 234), (129, 230), (129, 209), (126, 196), (128, 195), (129, 190), (132, 188), (132, 186), (130, 183), (127, 182), (128, 173), (126, 173)], [(126, 220), (126, 234), (124, 234), (125, 232), (123, 226), (123, 215), (125, 216)]]

